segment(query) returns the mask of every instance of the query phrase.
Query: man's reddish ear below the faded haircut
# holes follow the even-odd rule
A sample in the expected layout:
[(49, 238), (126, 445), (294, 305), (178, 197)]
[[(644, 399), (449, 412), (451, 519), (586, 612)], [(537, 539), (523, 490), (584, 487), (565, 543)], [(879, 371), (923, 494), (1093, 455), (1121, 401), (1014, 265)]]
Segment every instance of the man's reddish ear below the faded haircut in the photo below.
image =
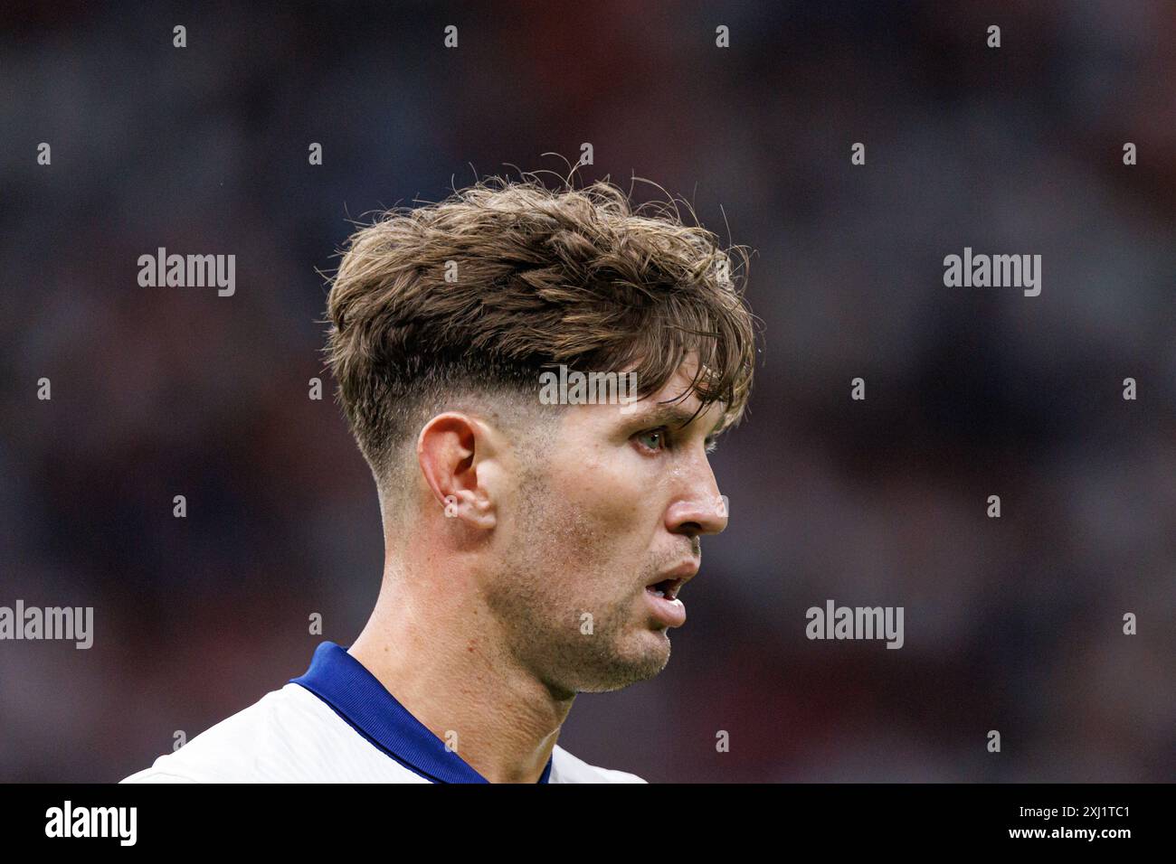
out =
[(496, 516), (488, 471), (479, 475), (494, 455), (490, 430), (461, 411), (436, 415), (416, 438), (416, 461), (437, 507), (447, 517), (483, 530), (494, 528)]

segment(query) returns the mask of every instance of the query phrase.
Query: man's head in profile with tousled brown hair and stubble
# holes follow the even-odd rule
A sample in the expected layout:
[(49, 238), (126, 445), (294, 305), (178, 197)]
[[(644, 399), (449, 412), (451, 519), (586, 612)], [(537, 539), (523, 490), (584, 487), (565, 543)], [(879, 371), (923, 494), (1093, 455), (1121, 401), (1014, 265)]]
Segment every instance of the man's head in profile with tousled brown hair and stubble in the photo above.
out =
[[(479, 183), (356, 232), (328, 301), (389, 549), (425, 540), (445, 572), (407, 578), (476, 594), (499, 650), (562, 692), (664, 667), (680, 604), (647, 585), (726, 525), (707, 451), (750, 389), (744, 252), (648, 207)], [(560, 367), (632, 371), (639, 401), (550, 404)]]

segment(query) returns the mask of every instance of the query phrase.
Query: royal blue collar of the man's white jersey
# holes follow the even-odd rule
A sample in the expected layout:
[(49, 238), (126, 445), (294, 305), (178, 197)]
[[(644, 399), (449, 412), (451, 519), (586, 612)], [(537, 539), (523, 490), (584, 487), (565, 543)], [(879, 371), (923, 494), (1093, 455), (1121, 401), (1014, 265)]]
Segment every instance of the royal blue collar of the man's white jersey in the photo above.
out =
[[(334, 642), (314, 650), (310, 668), (300, 678), (290, 678), (330, 705), (405, 768), (434, 783), (488, 783), (445, 742), (416, 719), (362, 663)], [(552, 759), (547, 761), (540, 783), (550, 782)]]

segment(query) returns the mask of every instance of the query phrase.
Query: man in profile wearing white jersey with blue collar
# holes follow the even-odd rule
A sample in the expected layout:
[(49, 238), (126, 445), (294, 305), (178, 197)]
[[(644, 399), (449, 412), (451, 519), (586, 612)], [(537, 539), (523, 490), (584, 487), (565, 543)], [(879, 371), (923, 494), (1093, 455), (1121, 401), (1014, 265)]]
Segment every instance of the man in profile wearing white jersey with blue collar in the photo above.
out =
[(576, 694), (666, 667), (727, 524), (707, 454), (754, 361), (730, 259), (607, 182), (477, 183), (358, 230), (327, 351), (379, 491), (376, 607), (127, 781), (643, 782), (556, 739)]

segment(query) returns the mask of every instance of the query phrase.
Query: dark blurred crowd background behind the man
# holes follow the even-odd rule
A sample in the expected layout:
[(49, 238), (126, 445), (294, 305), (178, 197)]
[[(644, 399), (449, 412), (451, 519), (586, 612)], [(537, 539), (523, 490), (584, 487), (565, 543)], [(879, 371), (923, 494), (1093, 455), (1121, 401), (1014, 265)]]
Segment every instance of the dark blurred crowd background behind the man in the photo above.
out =
[[(764, 333), (673, 659), (581, 696), (560, 743), (650, 781), (1176, 776), (1176, 4), (18, 0), (0, 25), (0, 605), (95, 610), (89, 650), (0, 643), (0, 781), (116, 781), (350, 644), (382, 543), (307, 397), (320, 272), (349, 220), (566, 174), (543, 154), (586, 141), (581, 178), (655, 181), (756, 250)], [(944, 287), (965, 246), (1041, 254), (1041, 296)], [(236, 294), (139, 287), (158, 247), (235, 254)], [(906, 645), (808, 641), (828, 598), (902, 605)]]

